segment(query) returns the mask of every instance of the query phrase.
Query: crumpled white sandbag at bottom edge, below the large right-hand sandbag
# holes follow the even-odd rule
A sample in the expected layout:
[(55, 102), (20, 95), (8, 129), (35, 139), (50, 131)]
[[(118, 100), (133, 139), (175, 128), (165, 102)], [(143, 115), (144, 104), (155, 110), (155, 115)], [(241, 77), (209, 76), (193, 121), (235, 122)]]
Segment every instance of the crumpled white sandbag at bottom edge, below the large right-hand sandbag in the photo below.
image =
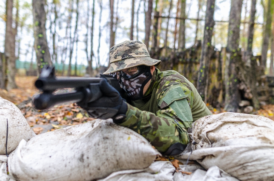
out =
[(217, 166), (211, 166), (207, 171), (197, 169), (190, 175), (182, 172), (174, 173), (174, 181), (239, 181), (237, 178), (230, 176)]

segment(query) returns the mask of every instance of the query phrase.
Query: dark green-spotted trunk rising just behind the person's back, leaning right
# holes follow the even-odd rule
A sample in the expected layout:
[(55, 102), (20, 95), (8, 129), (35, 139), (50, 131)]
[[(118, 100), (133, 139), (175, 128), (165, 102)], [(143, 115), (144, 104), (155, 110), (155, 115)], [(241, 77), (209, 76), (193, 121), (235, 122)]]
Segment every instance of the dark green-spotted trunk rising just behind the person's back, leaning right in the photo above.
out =
[(215, 0), (207, 0), (206, 6), (206, 21), (204, 28), (204, 40), (202, 44), (202, 55), (200, 59), (200, 71), (198, 75), (197, 91), (207, 103), (207, 88), (208, 88), (208, 74), (210, 57), (212, 55), (211, 39), (213, 35), (213, 27), (215, 25), (214, 17)]

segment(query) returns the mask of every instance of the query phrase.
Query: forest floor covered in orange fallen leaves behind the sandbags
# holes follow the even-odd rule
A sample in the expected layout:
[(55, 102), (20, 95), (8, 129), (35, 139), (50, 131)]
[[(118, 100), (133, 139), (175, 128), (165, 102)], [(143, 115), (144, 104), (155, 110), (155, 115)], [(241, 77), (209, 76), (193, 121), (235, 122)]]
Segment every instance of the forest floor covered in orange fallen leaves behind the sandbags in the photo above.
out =
[[(13, 102), (21, 110), (27, 122), (36, 134), (53, 131), (55, 129), (77, 125), (93, 120), (88, 117), (85, 110), (73, 103), (66, 105), (56, 105), (47, 111), (35, 110), (32, 107), (31, 97), (39, 93), (34, 86), (36, 76), (17, 76), (15, 78), (17, 89), (6, 90), (0, 89), (0, 97)], [(225, 112), (223, 109), (215, 109), (207, 105), (213, 114)], [(268, 117), (274, 121), (274, 105), (267, 104), (252, 114)]]

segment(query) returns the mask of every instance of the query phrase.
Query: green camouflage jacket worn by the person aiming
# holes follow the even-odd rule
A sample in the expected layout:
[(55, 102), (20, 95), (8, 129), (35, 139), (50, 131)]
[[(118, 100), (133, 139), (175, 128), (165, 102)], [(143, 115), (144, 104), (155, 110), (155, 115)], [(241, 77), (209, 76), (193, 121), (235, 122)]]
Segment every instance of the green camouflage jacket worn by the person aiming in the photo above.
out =
[(192, 122), (211, 115), (194, 85), (174, 70), (156, 68), (144, 98), (127, 104), (119, 125), (141, 134), (160, 152), (174, 143), (187, 144)]

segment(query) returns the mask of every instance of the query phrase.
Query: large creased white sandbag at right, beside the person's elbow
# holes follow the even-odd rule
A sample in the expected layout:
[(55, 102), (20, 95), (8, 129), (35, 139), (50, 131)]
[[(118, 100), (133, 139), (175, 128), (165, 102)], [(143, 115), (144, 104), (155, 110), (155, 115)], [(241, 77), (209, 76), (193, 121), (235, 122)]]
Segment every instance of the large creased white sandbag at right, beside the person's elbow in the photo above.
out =
[(204, 168), (218, 166), (239, 180), (274, 180), (274, 121), (266, 117), (221, 113), (192, 124), (194, 150), (179, 156)]

